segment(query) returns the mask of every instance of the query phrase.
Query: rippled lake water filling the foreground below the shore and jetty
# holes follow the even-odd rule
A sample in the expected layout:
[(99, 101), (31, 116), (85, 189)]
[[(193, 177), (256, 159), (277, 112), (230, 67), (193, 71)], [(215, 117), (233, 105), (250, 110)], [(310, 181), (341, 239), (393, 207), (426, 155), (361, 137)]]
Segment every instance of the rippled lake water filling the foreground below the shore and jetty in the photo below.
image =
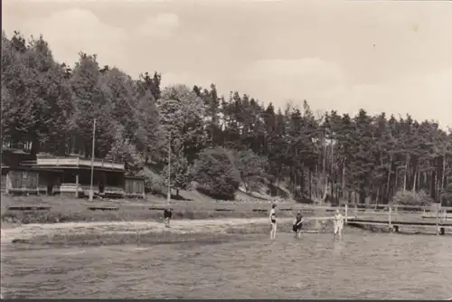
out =
[[(14, 250), (13, 250), (14, 249)], [(2, 253), (4, 297), (452, 297), (452, 239), (353, 232)]]

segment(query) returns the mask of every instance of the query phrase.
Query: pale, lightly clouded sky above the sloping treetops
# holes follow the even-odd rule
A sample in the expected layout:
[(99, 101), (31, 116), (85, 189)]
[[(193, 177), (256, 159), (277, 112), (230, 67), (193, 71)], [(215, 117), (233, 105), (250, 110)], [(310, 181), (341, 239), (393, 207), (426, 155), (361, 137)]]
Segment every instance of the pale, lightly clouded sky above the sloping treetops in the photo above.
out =
[(452, 2), (3, 0), (2, 26), (39, 36), (57, 61), (163, 84), (231, 90), (268, 105), (381, 111), (452, 127)]

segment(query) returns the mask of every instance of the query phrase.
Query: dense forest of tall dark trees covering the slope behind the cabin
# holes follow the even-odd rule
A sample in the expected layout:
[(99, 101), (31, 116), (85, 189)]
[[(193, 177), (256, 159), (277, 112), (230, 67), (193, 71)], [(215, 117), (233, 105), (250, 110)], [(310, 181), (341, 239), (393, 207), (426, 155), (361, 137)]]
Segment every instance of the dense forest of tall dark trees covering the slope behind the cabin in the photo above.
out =
[(157, 71), (132, 79), (79, 55), (59, 62), (42, 36), (2, 33), (2, 146), (90, 157), (96, 118), (95, 156), (146, 175), (149, 193), (165, 194), (170, 160), (176, 195), (233, 199), (240, 188), (302, 203), (452, 206), (452, 133), (435, 121), (315, 114), (306, 100), (277, 108), (214, 84), (162, 87)]

